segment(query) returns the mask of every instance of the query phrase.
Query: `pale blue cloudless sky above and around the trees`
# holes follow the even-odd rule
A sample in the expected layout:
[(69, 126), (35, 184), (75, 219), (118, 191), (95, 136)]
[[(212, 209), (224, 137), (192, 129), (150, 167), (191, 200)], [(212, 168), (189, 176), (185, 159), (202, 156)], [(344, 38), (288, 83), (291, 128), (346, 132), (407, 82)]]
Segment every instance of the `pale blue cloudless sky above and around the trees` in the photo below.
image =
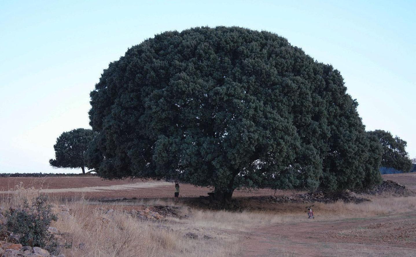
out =
[(332, 64), (367, 130), (416, 157), (416, 1), (85, 2), (0, 0), (0, 173), (79, 172), (48, 160), (60, 133), (89, 128), (102, 70), (156, 33), (206, 25), (268, 30)]

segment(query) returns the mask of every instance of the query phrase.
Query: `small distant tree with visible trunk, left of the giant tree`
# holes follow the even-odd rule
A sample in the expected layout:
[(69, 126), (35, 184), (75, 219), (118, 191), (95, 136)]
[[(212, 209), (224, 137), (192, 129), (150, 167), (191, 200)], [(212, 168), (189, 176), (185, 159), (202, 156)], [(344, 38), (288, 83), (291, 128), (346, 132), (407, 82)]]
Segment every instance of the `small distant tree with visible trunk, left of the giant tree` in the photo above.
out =
[(96, 132), (85, 128), (62, 133), (53, 146), (55, 159), (49, 160), (50, 165), (54, 168), (81, 168), (85, 174), (84, 154), (95, 136)]

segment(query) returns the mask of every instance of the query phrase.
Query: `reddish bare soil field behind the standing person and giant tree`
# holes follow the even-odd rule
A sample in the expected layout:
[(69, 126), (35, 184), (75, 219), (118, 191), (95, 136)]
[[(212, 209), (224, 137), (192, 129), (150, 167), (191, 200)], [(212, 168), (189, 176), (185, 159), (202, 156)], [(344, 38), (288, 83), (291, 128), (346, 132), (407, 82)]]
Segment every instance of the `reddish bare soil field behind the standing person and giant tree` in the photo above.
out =
[[(33, 188), (39, 193), (57, 197), (84, 197), (96, 200), (116, 200), (123, 198), (171, 198), (175, 190), (173, 183), (156, 180), (123, 179), (103, 180), (96, 176), (51, 177), (51, 178), (0, 178), (0, 194), (12, 194), (16, 187)], [(199, 197), (213, 191), (189, 184), (181, 184), (180, 196)], [(274, 190), (237, 190), (235, 197), (273, 195)], [(283, 194), (278, 191), (277, 194)]]

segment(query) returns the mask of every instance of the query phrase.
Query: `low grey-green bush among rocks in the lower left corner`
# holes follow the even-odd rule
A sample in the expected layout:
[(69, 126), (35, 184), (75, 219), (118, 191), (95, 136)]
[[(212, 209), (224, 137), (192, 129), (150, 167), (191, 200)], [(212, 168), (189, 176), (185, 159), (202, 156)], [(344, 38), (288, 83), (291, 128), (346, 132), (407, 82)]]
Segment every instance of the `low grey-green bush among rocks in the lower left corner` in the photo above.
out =
[(48, 205), (47, 200), (47, 196), (39, 195), (31, 206), (25, 200), (22, 208), (7, 213), (7, 230), (19, 238), (20, 244), (50, 251), (56, 247), (56, 240), (48, 228), (52, 221), (57, 221), (57, 216), (52, 213), (52, 205)]

